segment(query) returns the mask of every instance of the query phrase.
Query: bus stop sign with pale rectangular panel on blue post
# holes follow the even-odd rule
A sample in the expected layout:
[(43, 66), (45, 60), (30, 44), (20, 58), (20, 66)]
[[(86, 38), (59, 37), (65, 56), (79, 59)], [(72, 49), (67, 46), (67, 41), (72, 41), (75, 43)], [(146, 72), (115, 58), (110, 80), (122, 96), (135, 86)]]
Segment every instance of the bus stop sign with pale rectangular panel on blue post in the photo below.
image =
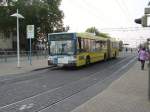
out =
[(30, 65), (32, 65), (32, 39), (34, 38), (34, 25), (27, 25), (27, 39), (30, 39)]

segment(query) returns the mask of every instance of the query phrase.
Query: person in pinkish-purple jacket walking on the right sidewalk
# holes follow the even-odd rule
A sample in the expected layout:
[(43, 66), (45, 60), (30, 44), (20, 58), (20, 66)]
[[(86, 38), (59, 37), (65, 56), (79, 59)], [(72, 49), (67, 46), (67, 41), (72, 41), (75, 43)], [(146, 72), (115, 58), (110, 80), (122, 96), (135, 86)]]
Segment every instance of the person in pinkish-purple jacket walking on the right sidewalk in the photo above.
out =
[(138, 53), (138, 59), (141, 62), (141, 70), (144, 70), (144, 65), (145, 65), (145, 61), (147, 60), (147, 57), (148, 55), (145, 48), (140, 49)]

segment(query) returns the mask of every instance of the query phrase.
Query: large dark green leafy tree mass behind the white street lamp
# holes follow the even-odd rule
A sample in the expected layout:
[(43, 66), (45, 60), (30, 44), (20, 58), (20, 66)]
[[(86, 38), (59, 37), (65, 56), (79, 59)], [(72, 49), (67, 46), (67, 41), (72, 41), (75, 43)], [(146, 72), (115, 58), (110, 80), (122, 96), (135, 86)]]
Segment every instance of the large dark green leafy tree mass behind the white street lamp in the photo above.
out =
[(37, 32), (47, 35), (51, 32), (64, 31), (62, 21), (64, 14), (59, 9), (60, 3), (61, 0), (8, 0), (7, 7), (0, 7), (0, 31), (16, 30), (16, 18), (10, 17), (16, 9), (25, 18), (19, 20), (22, 44), (26, 41), (26, 25), (35, 25), (36, 38)]

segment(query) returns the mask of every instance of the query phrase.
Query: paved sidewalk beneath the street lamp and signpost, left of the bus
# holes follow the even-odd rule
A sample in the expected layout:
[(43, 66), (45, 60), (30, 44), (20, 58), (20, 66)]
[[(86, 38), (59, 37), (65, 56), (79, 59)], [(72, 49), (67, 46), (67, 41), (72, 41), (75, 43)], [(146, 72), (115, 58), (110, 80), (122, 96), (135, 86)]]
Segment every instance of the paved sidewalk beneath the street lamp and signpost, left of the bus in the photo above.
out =
[(0, 76), (6, 74), (19, 74), (30, 72), (35, 69), (47, 68), (47, 58), (42, 59), (33, 59), (32, 65), (30, 65), (29, 61), (21, 61), (20, 68), (17, 68), (17, 62), (11, 63), (0, 63)]

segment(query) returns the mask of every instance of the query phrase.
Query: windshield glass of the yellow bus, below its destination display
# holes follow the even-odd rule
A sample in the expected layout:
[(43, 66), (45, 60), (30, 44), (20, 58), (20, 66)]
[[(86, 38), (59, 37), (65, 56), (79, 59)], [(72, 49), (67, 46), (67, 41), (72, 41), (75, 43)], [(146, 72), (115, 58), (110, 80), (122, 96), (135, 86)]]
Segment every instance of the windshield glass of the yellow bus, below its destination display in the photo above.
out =
[(73, 40), (61, 40), (50, 42), (51, 55), (73, 55)]

